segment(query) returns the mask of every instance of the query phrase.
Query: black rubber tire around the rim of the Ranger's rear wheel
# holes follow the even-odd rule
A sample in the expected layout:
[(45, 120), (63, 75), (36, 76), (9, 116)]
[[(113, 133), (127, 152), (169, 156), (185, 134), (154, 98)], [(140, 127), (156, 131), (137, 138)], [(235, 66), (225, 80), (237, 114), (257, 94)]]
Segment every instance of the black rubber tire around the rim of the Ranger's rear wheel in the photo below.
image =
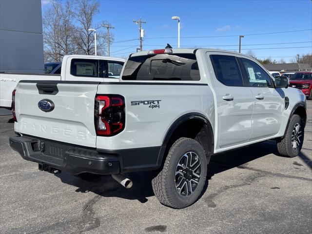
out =
[[(187, 196), (178, 194), (175, 184), (176, 167), (181, 156), (194, 152), (200, 160), (200, 178), (195, 191)], [(162, 169), (152, 180), (154, 193), (160, 203), (182, 209), (192, 205), (203, 192), (207, 176), (207, 159), (203, 147), (194, 139), (181, 137), (171, 146)]]

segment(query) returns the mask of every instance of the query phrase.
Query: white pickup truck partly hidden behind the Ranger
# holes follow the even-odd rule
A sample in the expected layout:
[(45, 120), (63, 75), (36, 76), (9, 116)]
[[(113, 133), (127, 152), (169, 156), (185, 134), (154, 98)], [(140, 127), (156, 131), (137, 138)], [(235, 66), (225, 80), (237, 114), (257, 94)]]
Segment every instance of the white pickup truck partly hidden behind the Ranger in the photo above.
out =
[(59, 74), (0, 73), (0, 107), (11, 109), (12, 92), (20, 80), (119, 81), (125, 59), (67, 55)]

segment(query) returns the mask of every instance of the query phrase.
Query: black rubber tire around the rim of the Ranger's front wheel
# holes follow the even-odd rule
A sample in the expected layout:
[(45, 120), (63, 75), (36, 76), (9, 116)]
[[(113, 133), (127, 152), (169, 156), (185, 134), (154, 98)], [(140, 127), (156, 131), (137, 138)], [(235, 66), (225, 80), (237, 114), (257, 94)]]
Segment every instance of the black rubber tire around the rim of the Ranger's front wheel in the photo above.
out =
[[(299, 123), (301, 126), (301, 144), (296, 149), (292, 148), (292, 130), (296, 123)], [(298, 156), (300, 153), (300, 150), (302, 148), (302, 143), (304, 139), (304, 128), (303, 128), (303, 121), (302, 118), (298, 115), (292, 115), (289, 126), (286, 130), (286, 134), (283, 138), (280, 138), (276, 140), (276, 146), (278, 153), (280, 156), (284, 157), (295, 157)]]

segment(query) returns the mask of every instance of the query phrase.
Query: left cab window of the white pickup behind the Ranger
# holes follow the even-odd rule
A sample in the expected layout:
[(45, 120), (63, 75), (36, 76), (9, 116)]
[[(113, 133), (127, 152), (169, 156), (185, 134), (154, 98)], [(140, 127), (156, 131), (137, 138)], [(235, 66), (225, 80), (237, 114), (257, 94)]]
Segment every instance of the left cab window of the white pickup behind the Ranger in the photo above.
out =
[(70, 74), (75, 77), (98, 77), (98, 60), (72, 59)]

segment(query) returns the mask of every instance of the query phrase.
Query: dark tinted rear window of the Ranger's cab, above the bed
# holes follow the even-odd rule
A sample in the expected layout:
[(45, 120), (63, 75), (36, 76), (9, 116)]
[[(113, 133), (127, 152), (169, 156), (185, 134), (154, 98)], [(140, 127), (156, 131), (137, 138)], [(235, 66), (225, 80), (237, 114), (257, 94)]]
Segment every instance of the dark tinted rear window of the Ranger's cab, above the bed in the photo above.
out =
[(130, 57), (123, 80), (200, 80), (194, 54), (156, 54)]

